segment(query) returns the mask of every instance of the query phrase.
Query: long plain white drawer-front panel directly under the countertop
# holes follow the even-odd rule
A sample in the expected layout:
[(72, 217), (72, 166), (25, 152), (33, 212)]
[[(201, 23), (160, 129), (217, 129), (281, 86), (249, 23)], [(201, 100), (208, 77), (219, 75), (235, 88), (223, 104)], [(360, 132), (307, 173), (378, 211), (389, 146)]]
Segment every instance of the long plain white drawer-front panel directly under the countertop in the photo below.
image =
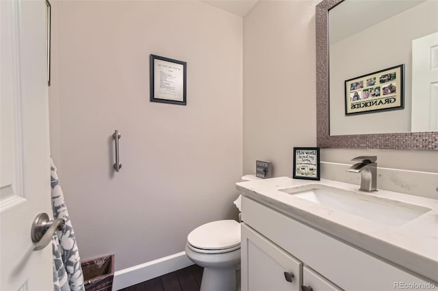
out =
[(398, 282), (428, 283), (248, 197), (242, 197), (242, 221), (344, 290), (394, 290)]

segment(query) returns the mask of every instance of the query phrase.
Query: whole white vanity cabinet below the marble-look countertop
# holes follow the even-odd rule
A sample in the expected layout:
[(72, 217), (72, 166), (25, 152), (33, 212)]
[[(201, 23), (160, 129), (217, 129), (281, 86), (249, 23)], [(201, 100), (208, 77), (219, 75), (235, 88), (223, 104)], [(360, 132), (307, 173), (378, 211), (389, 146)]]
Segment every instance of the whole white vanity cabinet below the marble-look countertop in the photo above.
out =
[[(248, 197), (242, 197), (242, 221), (242, 291), (430, 289), (411, 271)], [(292, 282), (285, 273), (294, 274)]]

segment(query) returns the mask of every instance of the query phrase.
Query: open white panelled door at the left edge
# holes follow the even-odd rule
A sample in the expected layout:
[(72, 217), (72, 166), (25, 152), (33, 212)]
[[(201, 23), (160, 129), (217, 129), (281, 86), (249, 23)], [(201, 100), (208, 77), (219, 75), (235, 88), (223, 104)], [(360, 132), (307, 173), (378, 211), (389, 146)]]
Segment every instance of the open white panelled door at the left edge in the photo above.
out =
[(33, 251), (36, 214), (51, 215), (46, 4), (0, 1), (0, 290), (53, 290), (51, 245)]

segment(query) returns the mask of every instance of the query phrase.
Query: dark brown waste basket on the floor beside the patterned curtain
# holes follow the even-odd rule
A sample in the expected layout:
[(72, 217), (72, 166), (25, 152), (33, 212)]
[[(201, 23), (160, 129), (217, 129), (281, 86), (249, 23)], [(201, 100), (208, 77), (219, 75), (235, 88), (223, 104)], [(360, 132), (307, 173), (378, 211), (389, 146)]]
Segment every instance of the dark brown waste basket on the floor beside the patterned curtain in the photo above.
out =
[(81, 264), (86, 291), (111, 291), (114, 279), (114, 253)]

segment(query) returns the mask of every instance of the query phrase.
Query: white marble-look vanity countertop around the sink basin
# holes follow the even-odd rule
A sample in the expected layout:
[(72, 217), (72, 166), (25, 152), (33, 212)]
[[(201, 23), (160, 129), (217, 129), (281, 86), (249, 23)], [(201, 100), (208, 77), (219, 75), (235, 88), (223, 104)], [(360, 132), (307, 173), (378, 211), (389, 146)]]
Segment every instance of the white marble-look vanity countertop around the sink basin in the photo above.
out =
[(311, 184), (346, 189), (361, 195), (364, 193), (359, 191), (359, 185), (324, 179), (315, 181), (279, 177), (236, 183), (237, 189), (246, 197), (275, 208), (383, 260), (438, 282), (438, 200), (380, 189), (375, 193), (366, 193), (396, 200), (394, 203), (405, 202), (431, 209), (402, 225), (388, 226), (280, 191), (309, 189)]

